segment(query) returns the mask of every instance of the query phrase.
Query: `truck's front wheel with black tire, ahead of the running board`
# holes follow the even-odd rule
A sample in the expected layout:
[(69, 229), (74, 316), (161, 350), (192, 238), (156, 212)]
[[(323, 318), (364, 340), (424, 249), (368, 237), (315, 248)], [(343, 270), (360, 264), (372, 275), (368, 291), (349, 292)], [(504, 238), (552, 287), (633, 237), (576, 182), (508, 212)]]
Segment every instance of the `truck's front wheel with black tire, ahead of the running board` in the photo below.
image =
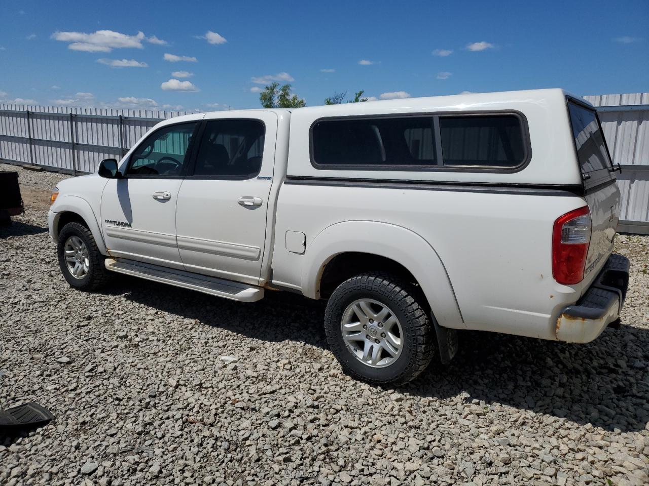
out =
[[(70, 256), (66, 255), (66, 245), (71, 245), (67, 246), (67, 249), (76, 249), (75, 242), (79, 241), (83, 244), (80, 248), (84, 248), (86, 251), (82, 252), (82, 255), (75, 253), (75, 257), (79, 255), (79, 262), (83, 260), (84, 271), (79, 273), (79, 277), (75, 277), (66, 261), (66, 256)], [(108, 271), (104, 266), (105, 257), (99, 253), (95, 237), (87, 227), (76, 222), (66, 224), (58, 234), (56, 249), (58, 266), (71, 287), (86, 291), (97, 290), (108, 281)], [(75, 264), (76, 262), (71, 263)]]

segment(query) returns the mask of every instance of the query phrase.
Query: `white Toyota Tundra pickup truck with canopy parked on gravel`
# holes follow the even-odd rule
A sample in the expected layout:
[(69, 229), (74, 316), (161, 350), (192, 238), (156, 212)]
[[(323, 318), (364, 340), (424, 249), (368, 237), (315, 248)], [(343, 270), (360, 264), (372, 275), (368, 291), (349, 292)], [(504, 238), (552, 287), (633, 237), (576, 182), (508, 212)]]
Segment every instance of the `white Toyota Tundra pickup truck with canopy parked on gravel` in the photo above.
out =
[(561, 89), (178, 117), (51, 201), (71, 286), (328, 299), (343, 369), (383, 386), (458, 329), (591, 341), (628, 286), (600, 122)]

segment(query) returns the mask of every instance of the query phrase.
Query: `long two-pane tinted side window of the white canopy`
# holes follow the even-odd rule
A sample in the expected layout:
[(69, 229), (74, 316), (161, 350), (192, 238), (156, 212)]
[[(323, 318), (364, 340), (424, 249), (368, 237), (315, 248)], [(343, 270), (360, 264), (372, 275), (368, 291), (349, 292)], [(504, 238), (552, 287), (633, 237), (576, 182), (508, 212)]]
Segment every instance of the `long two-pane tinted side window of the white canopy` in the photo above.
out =
[(324, 118), (310, 138), (318, 169), (516, 172), (531, 156), (518, 112)]

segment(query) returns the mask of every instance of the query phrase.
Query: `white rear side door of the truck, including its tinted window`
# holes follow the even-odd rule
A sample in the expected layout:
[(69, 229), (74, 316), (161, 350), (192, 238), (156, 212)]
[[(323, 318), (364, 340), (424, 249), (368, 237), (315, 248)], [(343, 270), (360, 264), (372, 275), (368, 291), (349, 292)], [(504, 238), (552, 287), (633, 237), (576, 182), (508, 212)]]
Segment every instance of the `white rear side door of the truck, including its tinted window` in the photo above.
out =
[(258, 284), (277, 117), (243, 115), (224, 113), (202, 123), (193, 167), (178, 194), (176, 229), (188, 272)]

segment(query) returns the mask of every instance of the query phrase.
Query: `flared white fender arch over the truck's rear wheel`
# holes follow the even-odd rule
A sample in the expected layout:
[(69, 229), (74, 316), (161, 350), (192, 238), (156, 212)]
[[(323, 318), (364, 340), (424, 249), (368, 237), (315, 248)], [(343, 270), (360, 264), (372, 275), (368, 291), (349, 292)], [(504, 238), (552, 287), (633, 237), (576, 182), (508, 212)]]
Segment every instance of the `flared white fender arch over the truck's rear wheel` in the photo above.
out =
[(440, 325), (463, 329), (450, 279), (435, 249), (410, 229), (376, 221), (345, 221), (321, 231), (309, 244), (302, 267), (302, 293), (319, 298), (324, 267), (341, 253), (372, 253), (395, 260), (413, 274)]

